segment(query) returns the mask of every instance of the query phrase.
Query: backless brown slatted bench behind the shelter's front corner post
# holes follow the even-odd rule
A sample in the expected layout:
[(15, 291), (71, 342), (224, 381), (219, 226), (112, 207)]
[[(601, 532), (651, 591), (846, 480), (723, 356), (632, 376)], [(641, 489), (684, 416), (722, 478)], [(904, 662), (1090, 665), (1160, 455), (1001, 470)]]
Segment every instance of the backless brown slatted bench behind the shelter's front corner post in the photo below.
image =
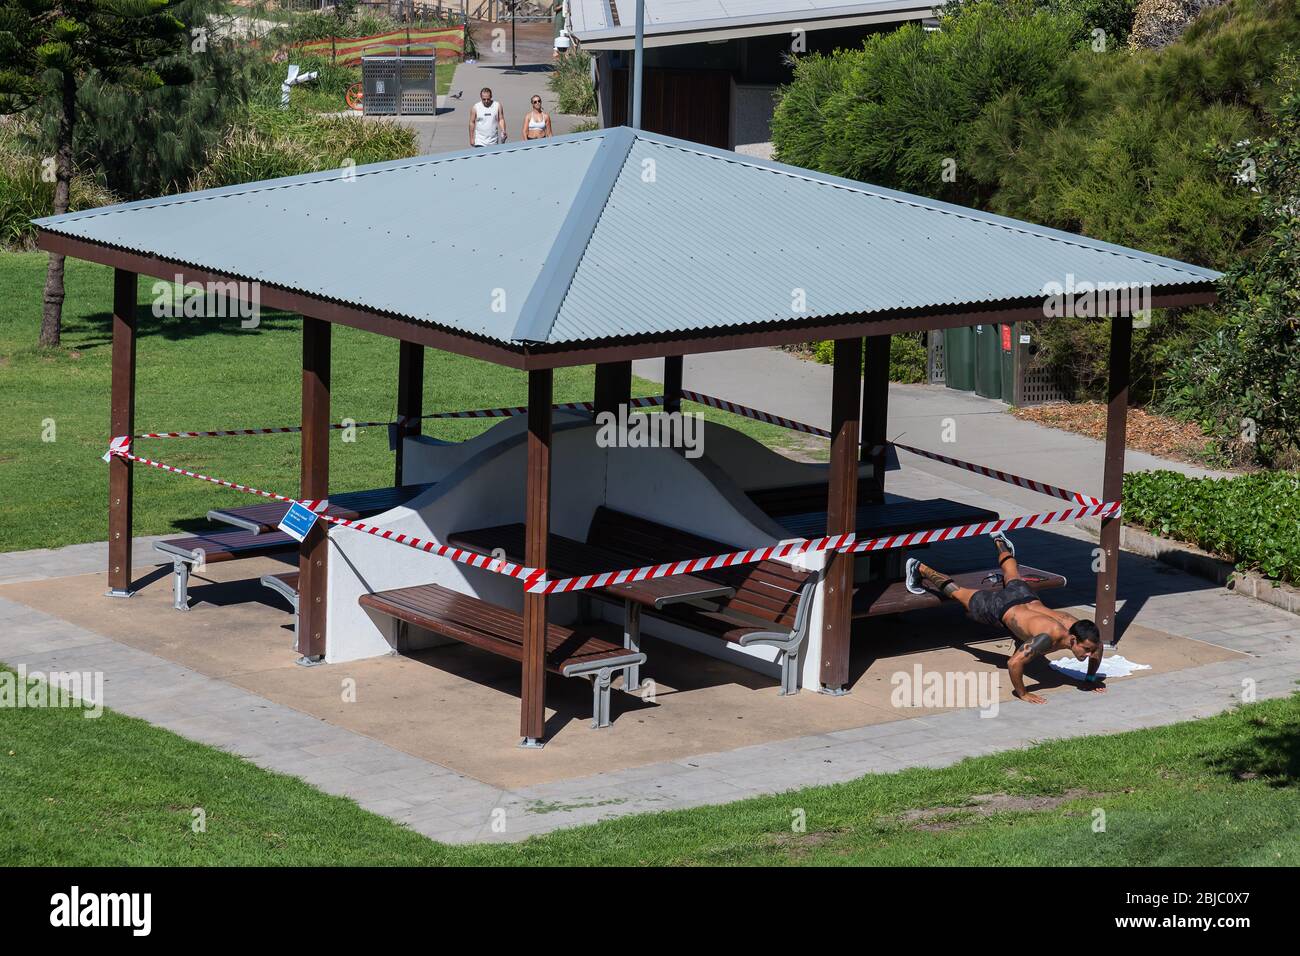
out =
[[(524, 617), (477, 597), (437, 584), (361, 594), (363, 607), (393, 618), (394, 645), (406, 648), (406, 628), (422, 627), (442, 637), (488, 650), (511, 661), (524, 659)], [(606, 640), (606, 639), (612, 640)], [(610, 726), (610, 684), (616, 671), (645, 663), (646, 656), (615, 641), (619, 628), (606, 623), (546, 626), (546, 670), (566, 678), (592, 679), (592, 726)]]

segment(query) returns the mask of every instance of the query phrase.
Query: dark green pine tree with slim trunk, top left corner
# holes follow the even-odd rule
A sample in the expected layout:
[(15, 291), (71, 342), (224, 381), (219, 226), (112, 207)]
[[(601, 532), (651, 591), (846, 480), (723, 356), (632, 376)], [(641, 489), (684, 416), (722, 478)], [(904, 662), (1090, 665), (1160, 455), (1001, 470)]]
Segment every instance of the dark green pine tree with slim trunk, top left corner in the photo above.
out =
[[(55, 117), (55, 215), (68, 212), (77, 94), (91, 75), (126, 90), (188, 82), (176, 59), (185, 25), (170, 0), (0, 0), (0, 114), (26, 109)], [(58, 345), (64, 256), (49, 255), (40, 345)]]

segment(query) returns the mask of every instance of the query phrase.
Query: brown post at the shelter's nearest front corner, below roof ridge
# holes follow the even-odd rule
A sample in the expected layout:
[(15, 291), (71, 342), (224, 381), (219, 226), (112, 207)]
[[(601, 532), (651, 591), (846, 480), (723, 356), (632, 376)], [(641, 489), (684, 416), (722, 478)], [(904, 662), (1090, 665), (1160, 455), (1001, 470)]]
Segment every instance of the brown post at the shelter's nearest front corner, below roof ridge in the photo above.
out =
[[(528, 477), (524, 490), (524, 563), (546, 567), (551, 532), (551, 369), (528, 373)], [(546, 731), (546, 594), (524, 592), (524, 667), (519, 732), (541, 747)]]

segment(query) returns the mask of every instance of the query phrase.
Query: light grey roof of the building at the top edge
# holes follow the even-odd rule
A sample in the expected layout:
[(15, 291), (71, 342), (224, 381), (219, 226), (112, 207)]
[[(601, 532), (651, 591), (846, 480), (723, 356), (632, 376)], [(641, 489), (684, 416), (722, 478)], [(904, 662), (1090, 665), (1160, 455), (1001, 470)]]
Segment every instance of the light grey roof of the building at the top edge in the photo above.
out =
[[(792, 30), (932, 17), (945, 0), (645, 0), (645, 44), (667, 47)], [(568, 31), (586, 49), (630, 49), (636, 0), (568, 0)]]

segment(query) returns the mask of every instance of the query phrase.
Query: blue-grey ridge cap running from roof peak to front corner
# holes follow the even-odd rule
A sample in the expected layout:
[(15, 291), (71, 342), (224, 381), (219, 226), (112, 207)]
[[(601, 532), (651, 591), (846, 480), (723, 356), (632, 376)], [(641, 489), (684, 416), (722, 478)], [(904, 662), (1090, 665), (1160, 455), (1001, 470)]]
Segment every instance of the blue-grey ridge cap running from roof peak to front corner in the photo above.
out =
[(637, 139), (637, 133), (627, 126), (614, 126), (603, 133), (592, 165), (578, 183), (577, 198), (560, 224), (537, 281), (519, 310), (519, 320), (511, 333), (512, 342), (537, 343), (550, 338), (560, 303), (568, 295), (592, 233), (604, 215), (614, 185)]

